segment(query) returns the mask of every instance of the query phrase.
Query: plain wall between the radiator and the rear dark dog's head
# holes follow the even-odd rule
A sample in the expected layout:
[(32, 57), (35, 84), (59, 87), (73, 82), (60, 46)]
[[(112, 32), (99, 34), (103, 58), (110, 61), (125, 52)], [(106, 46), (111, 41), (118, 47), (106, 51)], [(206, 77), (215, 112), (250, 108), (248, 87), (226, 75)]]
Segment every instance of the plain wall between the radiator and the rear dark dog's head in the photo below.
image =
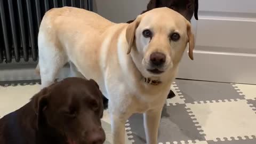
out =
[(94, 11), (113, 22), (133, 20), (146, 10), (149, 0), (95, 0)]

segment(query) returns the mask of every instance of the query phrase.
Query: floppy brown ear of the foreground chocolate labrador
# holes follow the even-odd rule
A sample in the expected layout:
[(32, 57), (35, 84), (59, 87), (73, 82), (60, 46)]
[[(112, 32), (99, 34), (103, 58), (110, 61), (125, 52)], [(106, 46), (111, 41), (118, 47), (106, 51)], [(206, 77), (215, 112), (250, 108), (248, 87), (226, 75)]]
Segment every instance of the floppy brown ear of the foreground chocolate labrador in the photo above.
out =
[(41, 125), (45, 121), (43, 111), (47, 107), (49, 96), (50, 96), (50, 92), (47, 89), (47, 87), (45, 87), (40, 92), (35, 94), (31, 100), (33, 102), (34, 111), (37, 115), (37, 128), (39, 127), (39, 125)]

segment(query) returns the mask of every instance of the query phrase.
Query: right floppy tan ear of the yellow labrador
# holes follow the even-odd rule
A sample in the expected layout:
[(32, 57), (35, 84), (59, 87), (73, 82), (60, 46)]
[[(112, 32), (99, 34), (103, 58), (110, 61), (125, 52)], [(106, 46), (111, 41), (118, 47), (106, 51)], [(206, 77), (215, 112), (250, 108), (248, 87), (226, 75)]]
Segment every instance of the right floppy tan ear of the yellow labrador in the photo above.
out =
[(194, 60), (193, 50), (195, 48), (195, 37), (194, 37), (194, 34), (192, 33), (191, 24), (188, 21), (187, 21), (187, 35), (188, 35), (188, 43), (189, 43), (188, 55), (191, 60)]

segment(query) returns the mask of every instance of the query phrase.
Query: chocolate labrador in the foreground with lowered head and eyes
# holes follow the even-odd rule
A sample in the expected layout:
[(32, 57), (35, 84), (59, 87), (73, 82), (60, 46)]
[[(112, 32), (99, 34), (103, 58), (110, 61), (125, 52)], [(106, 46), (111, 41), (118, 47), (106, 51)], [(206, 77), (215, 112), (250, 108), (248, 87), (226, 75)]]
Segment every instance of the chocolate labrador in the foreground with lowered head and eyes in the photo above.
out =
[(102, 144), (102, 93), (90, 79), (66, 78), (0, 119), (1, 144)]

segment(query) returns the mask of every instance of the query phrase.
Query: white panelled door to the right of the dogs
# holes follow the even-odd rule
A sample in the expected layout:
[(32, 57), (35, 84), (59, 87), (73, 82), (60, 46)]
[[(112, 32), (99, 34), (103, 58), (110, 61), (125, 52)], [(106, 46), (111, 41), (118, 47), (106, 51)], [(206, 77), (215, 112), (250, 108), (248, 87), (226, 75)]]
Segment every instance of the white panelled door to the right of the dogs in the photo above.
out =
[(194, 61), (178, 78), (256, 84), (256, 0), (199, 0)]

